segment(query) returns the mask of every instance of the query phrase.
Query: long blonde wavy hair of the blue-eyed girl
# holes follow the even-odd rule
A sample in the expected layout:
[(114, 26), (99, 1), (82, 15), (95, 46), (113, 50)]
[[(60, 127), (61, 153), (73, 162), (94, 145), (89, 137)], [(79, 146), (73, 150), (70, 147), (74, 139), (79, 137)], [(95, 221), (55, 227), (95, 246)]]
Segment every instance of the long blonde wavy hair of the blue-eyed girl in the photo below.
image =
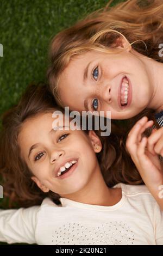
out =
[(49, 46), (49, 88), (60, 106), (59, 80), (70, 61), (87, 51), (119, 53), (118, 39), (124, 38), (128, 46), (145, 56), (163, 62), (158, 54), (163, 42), (162, 0), (128, 0), (94, 11), (74, 26), (61, 31)]

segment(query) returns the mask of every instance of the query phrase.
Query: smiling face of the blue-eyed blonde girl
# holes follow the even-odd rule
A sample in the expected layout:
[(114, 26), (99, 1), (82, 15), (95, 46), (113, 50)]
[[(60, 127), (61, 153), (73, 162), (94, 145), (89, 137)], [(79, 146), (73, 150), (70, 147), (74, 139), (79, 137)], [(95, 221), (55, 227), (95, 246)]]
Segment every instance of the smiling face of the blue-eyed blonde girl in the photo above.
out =
[[(60, 75), (60, 99), (79, 112), (104, 111), (106, 116), (111, 111), (112, 119), (134, 117), (148, 107), (152, 97), (144, 60), (133, 49), (117, 54), (91, 51), (74, 57)], [(127, 105), (122, 106), (125, 96)]]

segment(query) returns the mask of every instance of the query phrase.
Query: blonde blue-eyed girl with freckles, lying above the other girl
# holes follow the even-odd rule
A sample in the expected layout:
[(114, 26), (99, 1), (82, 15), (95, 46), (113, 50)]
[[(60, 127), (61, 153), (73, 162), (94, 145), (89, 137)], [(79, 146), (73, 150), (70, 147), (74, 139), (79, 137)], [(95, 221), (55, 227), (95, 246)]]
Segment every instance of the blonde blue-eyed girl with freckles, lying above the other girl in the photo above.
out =
[[(162, 126), (163, 3), (111, 2), (54, 36), (49, 88), (62, 107), (111, 111), (112, 119), (134, 117), (134, 123), (150, 115)], [(163, 128), (147, 147), (163, 156)]]

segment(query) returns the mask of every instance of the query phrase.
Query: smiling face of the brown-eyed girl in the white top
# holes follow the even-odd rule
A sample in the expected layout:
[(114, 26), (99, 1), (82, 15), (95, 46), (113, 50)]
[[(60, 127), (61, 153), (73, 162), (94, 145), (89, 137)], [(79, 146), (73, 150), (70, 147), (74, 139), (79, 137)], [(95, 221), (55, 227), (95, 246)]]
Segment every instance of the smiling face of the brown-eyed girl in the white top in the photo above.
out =
[[(42, 191), (51, 190), (60, 195), (74, 193), (101, 172), (95, 153), (101, 151), (102, 145), (93, 131), (89, 135), (80, 130), (55, 131), (53, 121), (52, 113), (41, 113), (24, 122), (18, 135), (21, 156)], [(77, 163), (71, 175), (64, 179), (57, 176), (60, 167), (73, 160)]]

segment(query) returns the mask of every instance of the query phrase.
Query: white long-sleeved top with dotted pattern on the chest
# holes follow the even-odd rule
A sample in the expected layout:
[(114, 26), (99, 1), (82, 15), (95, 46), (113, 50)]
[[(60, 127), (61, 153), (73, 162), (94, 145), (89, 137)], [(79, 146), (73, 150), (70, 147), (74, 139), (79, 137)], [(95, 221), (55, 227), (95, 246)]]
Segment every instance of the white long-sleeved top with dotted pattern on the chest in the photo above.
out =
[(0, 210), (0, 241), (38, 245), (163, 245), (163, 211), (145, 185), (117, 184), (113, 206), (45, 198), (40, 206)]

